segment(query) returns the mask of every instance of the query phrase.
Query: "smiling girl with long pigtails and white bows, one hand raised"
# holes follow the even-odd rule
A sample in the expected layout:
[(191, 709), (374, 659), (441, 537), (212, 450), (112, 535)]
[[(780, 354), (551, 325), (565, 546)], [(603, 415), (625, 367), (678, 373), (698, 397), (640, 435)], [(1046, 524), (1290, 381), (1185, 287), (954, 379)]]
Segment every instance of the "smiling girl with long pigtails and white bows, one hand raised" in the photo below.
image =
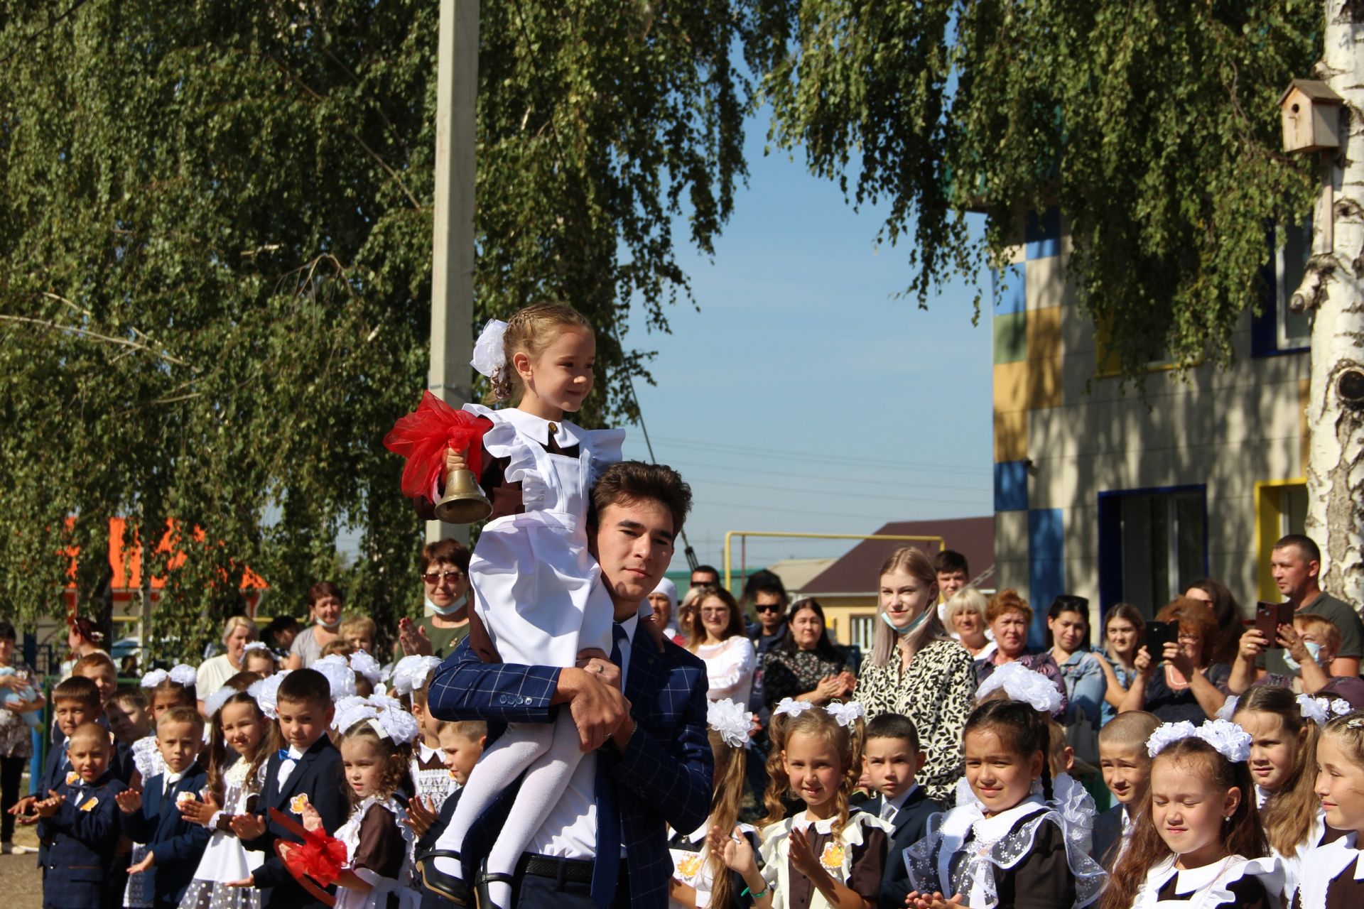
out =
[[(762, 868), (742, 837), (716, 830), (709, 845), (739, 872), (758, 909), (876, 906), (891, 826), (848, 807), (862, 773), (862, 705), (784, 698), (772, 711), (768, 810)], [(786, 816), (782, 796), (794, 789), (805, 810)]]

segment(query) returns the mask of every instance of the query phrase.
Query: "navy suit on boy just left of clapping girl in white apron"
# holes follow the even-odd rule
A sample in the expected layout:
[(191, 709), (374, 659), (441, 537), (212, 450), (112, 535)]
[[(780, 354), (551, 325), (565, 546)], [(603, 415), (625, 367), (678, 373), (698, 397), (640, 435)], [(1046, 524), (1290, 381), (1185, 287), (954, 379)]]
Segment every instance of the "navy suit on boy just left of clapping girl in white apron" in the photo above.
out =
[(186, 820), (176, 807), (181, 792), (198, 799), (207, 781), (207, 774), (191, 765), (170, 793), (164, 795), (165, 774), (157, 774), (142, 785), (142, 808), (131, 815), (119, 812), (123, 831), (151, 852), (151, 867), (143, 872), (143, 893), (153, 894), (155, 906), (180, 905), (209, 845), (211, 831)]

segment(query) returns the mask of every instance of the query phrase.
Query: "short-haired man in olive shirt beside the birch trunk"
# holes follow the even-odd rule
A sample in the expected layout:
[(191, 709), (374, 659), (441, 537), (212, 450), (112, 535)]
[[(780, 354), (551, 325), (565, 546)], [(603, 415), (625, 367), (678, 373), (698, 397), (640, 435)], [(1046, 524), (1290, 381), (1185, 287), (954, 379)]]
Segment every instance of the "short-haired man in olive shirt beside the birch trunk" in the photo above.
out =
[[(1339, 628), (1341, 646), (1331, 665), (1323, 666), (1327, 673), (1359, 677), (1360, 656), (1364, 653), (1364, 621), (1360, 621), (1359, 613), (1349, 604), (1322, 591), (1322, 551), (1318, 545), (1309, 537), (1289, 534), (1274, 544), (1270, 567), (1274, 583), (1293, 605), (1293, 612), (1322, 616)], [(1279, 643), (1285, 643), (1286, 635), (1296, 634), (1290, 627), (1281, 627)], [(1232, 694), (1244, 692), (1266, 673), (1288, 677), (1299, 675), (1284, 662), (1286, 649), (1270, 647), (1269, 643), (1255, 628), (1241, 635), (1241, 649), (1228, 679)]]

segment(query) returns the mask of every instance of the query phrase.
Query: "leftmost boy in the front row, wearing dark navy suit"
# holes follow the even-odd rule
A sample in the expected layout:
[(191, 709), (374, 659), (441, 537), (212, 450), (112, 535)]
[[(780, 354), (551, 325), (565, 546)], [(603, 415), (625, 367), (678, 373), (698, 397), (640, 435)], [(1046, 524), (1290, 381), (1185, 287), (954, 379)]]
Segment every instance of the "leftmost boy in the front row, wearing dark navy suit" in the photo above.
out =
[(106, 909), (123, 891), (108, 890), (119, 845), (115, 797), (127, 786), (109, 773), (113, 745), (109, 730), (86, 722), (67, 736), (74, 778), (48, 792), (34, 810), (44, 820), (46, 863), (42, 868), (44, 909)]

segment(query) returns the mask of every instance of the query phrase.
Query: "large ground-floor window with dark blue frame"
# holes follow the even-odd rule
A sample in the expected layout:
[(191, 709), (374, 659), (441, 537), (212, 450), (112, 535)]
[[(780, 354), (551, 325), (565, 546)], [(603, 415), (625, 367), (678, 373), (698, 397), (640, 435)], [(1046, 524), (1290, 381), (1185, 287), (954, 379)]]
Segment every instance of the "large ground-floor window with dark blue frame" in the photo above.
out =
[(1203, 487), (1099, 493), (1099, 602), (1147, 617), (1207, 575)]

